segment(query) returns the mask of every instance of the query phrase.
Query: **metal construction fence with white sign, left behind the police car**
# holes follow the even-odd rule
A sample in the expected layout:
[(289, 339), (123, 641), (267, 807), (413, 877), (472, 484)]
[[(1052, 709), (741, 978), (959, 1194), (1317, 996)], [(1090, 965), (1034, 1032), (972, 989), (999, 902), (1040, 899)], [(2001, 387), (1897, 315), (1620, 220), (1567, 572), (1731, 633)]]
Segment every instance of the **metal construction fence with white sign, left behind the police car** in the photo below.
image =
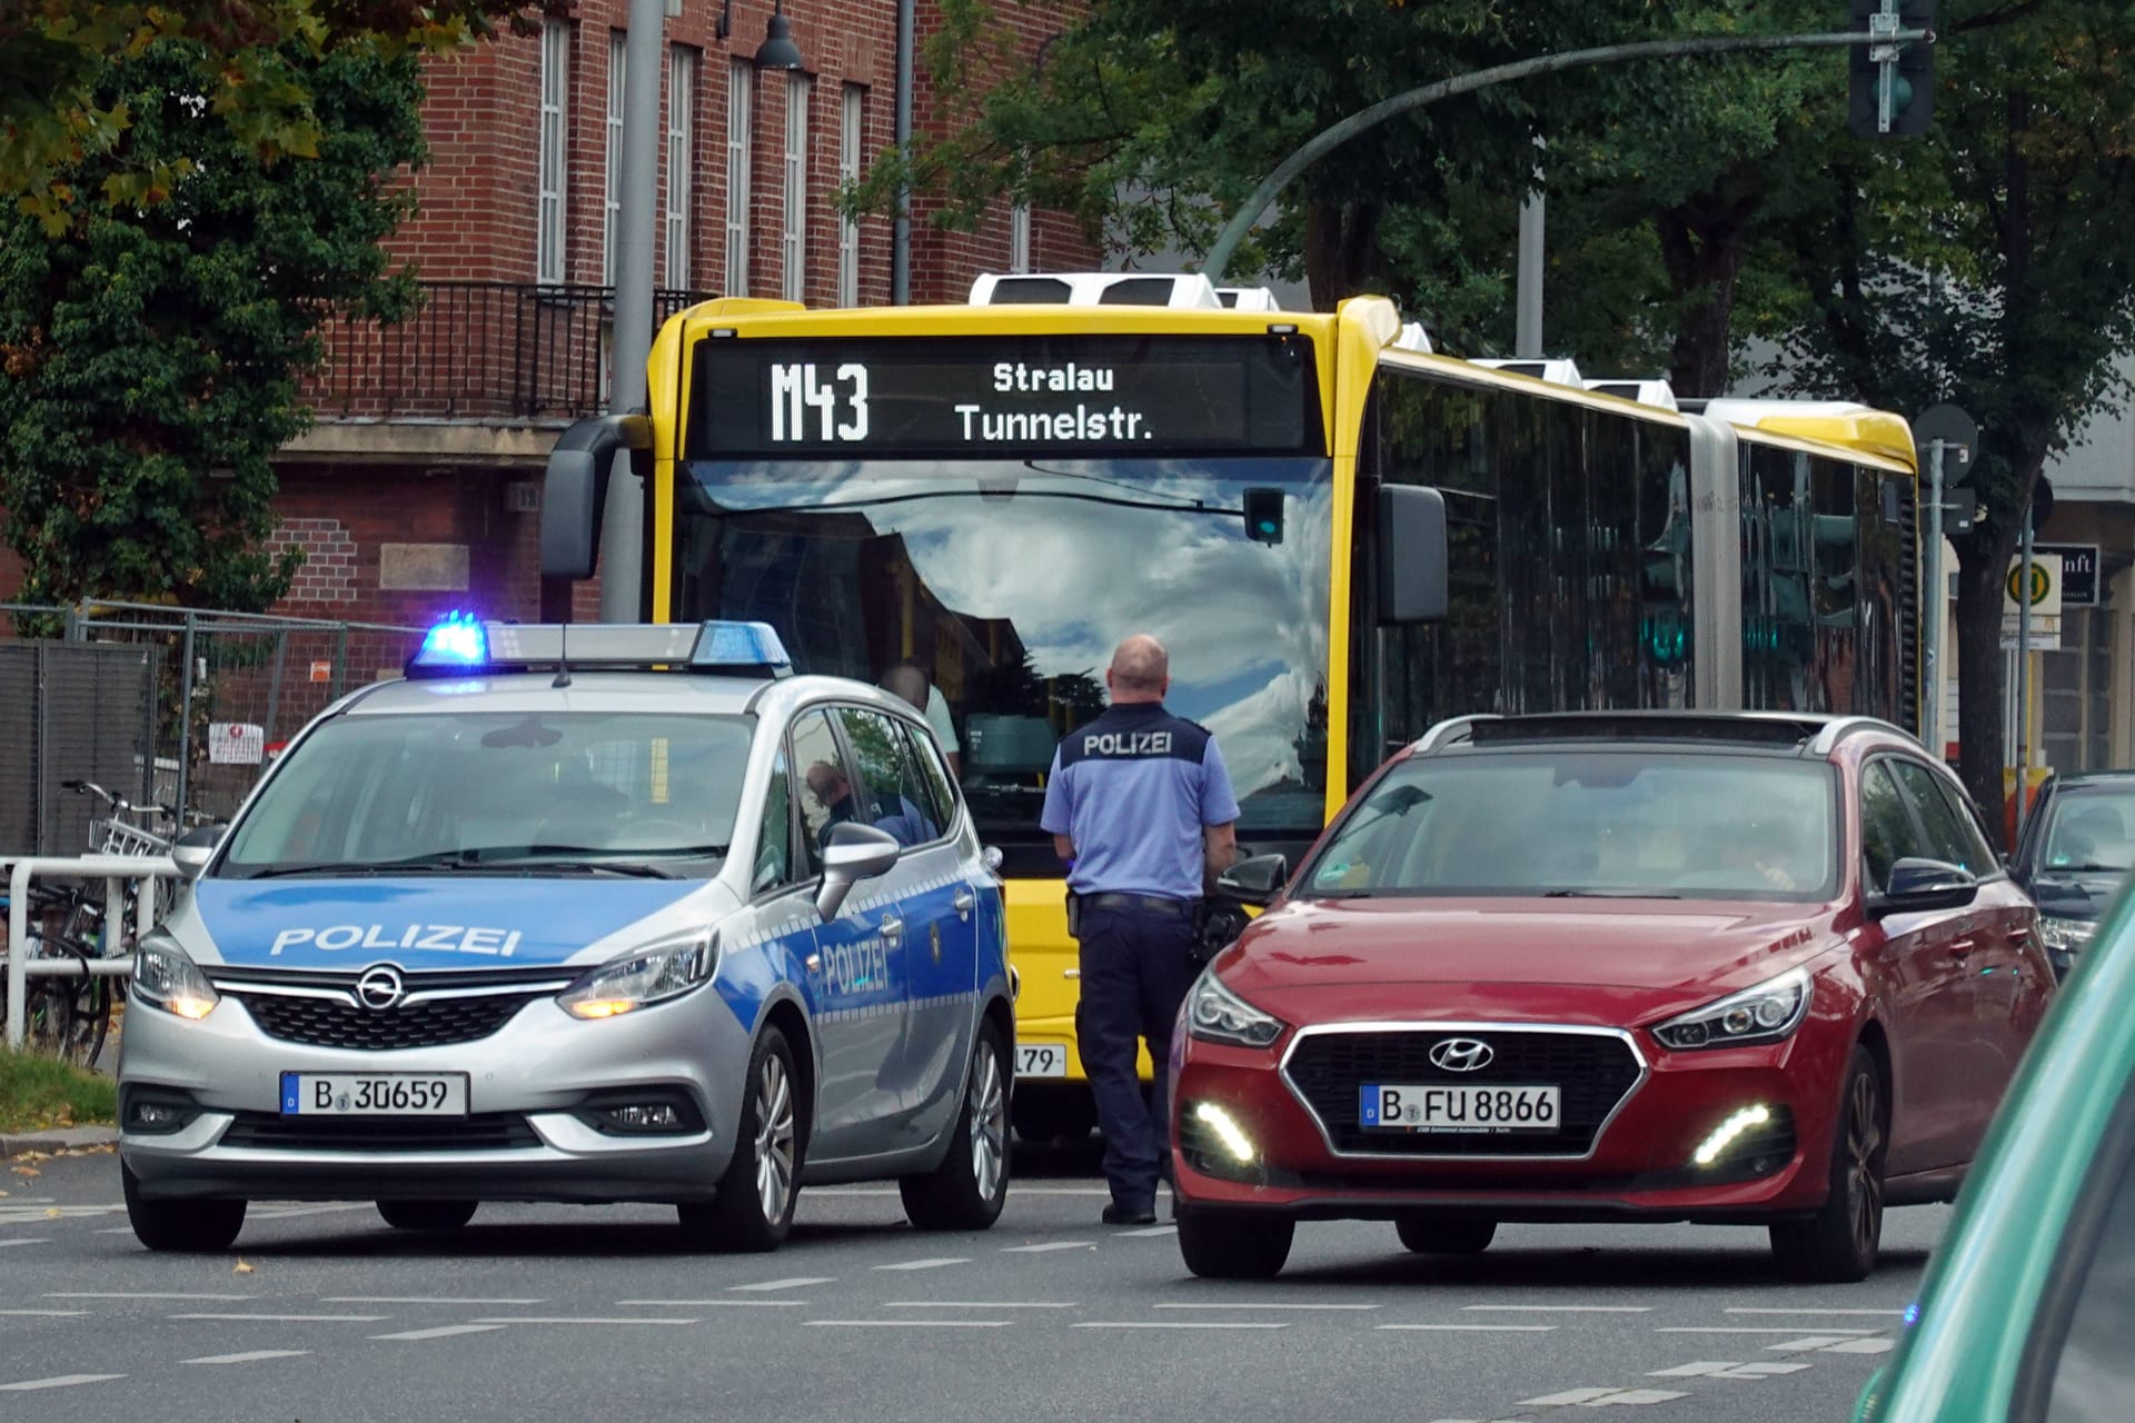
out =
[(421, 627), (96, 602), (0, 604), (0, 856), (73, 856), (128, 800), (228, 819), (303, 725), (399, 676)]

